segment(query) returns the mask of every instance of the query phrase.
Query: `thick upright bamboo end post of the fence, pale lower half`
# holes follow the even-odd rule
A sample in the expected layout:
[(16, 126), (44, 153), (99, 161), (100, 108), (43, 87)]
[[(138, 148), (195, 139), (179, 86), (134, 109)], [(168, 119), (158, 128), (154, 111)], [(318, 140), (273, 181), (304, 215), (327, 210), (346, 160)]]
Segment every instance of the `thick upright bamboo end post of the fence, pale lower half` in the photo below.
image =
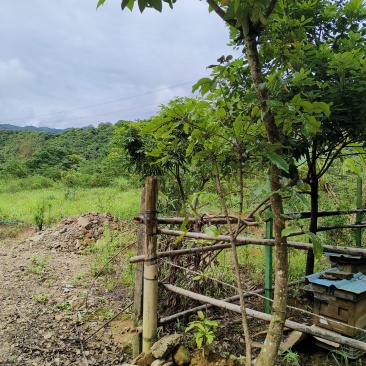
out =
[(158, 181), (147, 177), (145, 183), (145, 263), (143, 294), (142, 351), (147, 352), (157, 334), (158, 305), (158, 264), (157, 264), (157, 201)]

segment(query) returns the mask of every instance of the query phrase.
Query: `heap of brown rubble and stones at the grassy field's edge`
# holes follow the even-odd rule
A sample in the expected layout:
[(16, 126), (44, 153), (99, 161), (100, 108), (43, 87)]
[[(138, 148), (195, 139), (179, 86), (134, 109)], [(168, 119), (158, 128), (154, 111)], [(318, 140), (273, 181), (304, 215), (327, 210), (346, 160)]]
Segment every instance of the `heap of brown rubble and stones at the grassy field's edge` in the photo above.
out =
[(37, 232), (27, 241), (30, 245), (44, 244), (50, 249), (78, 253), (95, 243), (106, 228), (113, 232), (126, 225), (126, 222), (110, 214), (89, 212), (83, 216), (66, 217), (56, 226)]

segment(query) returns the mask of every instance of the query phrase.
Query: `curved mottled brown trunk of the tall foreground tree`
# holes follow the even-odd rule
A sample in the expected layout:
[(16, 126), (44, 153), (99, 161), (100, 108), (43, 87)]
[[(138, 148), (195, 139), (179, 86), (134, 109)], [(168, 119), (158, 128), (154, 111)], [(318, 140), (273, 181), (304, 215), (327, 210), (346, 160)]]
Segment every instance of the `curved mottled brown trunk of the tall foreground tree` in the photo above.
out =
[[(251, 34), (247, 35), (244, 37), (244, 43), (253, 85), (260, 103), (262, 120), (266, 128), (267, 139), (270, 143), (274, 144), (280, 142), (281, 137), (274, 116), (267, 108), (267, 100), (269, 97), (268, 90), (261, 87), (264, 83), (264, 77), (259, 61), (256, 36)], [(282, 155), (281, 150), (277, 150), (276, 153)], [(282, 197), (280, 194), (276, 193), (282, 187), (280, 178), (281, 170), (274, 164), (271, 164), (270, 188), (271, 192), (273, 192), (271, 195), (271, 208), (276, 217), (273, 220), (273, 235), (276, 252), (275, 291), (272, 305), (272, 320), (269, 325), (264, 346), (258, 356), (256, 366), (271, 366), (274, 364), (280, 347), (287, 314), (288, 250), (286, 238), (282, 238), (281, 235), (282, 230), (285, 228)]]

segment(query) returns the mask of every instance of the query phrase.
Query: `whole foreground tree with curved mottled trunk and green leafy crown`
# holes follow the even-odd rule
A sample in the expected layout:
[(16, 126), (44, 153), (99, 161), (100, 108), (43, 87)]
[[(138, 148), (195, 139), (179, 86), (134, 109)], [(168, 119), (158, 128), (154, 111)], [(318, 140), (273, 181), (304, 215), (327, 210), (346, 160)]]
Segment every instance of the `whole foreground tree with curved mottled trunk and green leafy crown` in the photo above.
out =
[[(173, 5), (171, 1), (166, 2), (170, 6)], [(103, 3), (104, 0), (99, 0), (98, 6)], [(132, 10), (134, 3), (135, 0), (123, 0), (122, 10), (126, 7)], [(328, 40), (327, 37), (339, 39), (348, 31), (347, 37), (350, 39), (351, 32), (347, 26), (337, 27), (335, 26), (336, 22), (331, 22), (330, 19), (337, 15), (339, 24), (347, 24), (347, 17), (350, 13), (362, 13), (363, 4), (359, 0), (351, 0), (349, 3), (338, 2), (337, 5), (344, 8), (345, 11), (335, 13), (336, 5), (330, 1), (322, 0), (314, 2), (207, 0), (207, 3), (211, 11), (214, 11), (230, 25), (231, 35), (236, 43), (244, 46), (243, 52), (247, 70), (245, 79), (250, 80), (253, 87), (251, 90), (246, 85), (244, 95), (253, 95), (254, 91), (255, 101), (252, 99), (252, 115), (256, 116), (257, 122), (263, 127), (267, 140), (267, 154), (265, 151), (261, 151), (261, 156), (264, 154), (270, 161), (270, 200), (274, 214), (273, 229), (277, 260), (272, 321), (256, 365), (270, 365), (276, 358), (286, 319), (288, 263), (287, 242), (282, 235), (285, 229), (285, 217), (281, 191), (283, 178), (290, 174), (291, 155), (296, 152), (296, 148), (291, 147), (289, 142), (292, 140), (304, 143), (306, 149), (302, 152), (297, 150), (297, 153), (301, 156), (306, 155), (306, 151), (310, 151), (313, 158), (311, 154), (308, 154), (308, 162), (311, 165), (314, 158), (320, 156), (317, 141), (321, 140), (321, 136), (323, 136), (324, 141), (323, 151), (329, 149), (333, 151), (334, 147), (338, 146), (331, 145), (331, 142), (334, 141), (333, 138), (340, 135), (345, 136), (340, 131), (333, 133), (334, 120), (329, 119), (329, 108), (336, 97), (330, 92), (329, 98), (322, 98), (321, 92), (327, 85), (327, 80), (324, 74), (323, 77), (321, 74), (321, 61), (318, 57), (320, 63), (318, 64), (319, 74), (317, 76), (320, 79), (316, 79), (312, 74), (313, 65), (311, 62), (308, 63), (310, 60), (307, 56), (313, 52), (315, 46), (319, 50), (318, 56), (321, 56), (321, 51), (327, 50), (326, 47), (322, 48), (322, 44)], [(146, 7), (162, 10), (161, 0), (139, 0), (138, 5), (141, 12)], [(320, 17), (317, 16), (319, 11), (321, 11)], [(357, 26), (357, 21), (352, 25), (354, 29), (355, 25)], [(325, 30), (328, 30), (327, 35)], [(334, 41), (334, 44), (337, 45), (337, 41)], [(334, 50), (331, 52), (336, 53)], [(336, 59), (337, 57), (334, 56), (334, 61)], [(350, 62), (346, 52), (341, 52), (338, 55), (338, 61), (341, 59)], [(298, 64), (305, 63), (306, 67), (296, 69), (293, 66), (296, 62)], [(331, 62), (329, 64), (332, 65)], [(360, 59), (357, 67), (359, 70), (364, 70), (363, 58)], [(348, 73), (346, 70), (345, 74), (349, 74), (351, 79), (356, 78), (355, 72)], [(340, 80), (344, 81), (344, 76)], [(310, 85), (306, 84), (307, 82)], [(209, 84), (208, 89), (211, 88), (211, 81)], [(201, 86), (206, 88), (204, 83), (201, 83)], [(301, 89), (296, 92), (296, 88), (304, 86), (309, 87), (306, 94), (302, 93)], [(314, 90), (311, 90), (315, 87), (319, 88), (317, 95), (314, 94)], [(288, 92), (290, 88), (291, 91)], [(291, 95), (291, 98), (286, 98), (286, 95)], [(339, 105), (341, 106), (341, 104)], [(344, 111), (344, 107), (338, 110), (338, 116), (342, 115), (342, 109)], [(334, 112), (337, 111), (334, 110)], [(233, 126), (235, 121), (236, 119), (231, 120)], [(344, 121), (340, 118), (339, 125), (344, 126)], [(349, 122), (349, 118), (347, 121)], [(240, 123), (236, 124), (236, 126), (239, 125)], [(259, 131), (262, 130), (259, 129)], [(298, 134), (301, 138), (295, 139), (294, 136)], [(346, 141), (349, 140), (348, 137)], [(216, 172), (218, 171), (219, 166), (216, 165)], [(309, 181), (316, 179), (317, 176), (319, 176), (319, 172), (310, 173)], [(248, 361), (247, 358), (247, 363), (249, 364), (249, 362), (250, 360)]]

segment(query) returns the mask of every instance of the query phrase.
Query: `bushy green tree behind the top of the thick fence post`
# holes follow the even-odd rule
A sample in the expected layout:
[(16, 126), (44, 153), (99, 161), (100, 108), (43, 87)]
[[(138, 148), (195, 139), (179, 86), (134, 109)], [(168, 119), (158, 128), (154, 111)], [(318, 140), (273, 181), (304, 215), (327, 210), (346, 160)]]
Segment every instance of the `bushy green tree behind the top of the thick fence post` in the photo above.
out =
[[(176, 98), (161, 106), (158, 115), (151, 120), (119, 122), (114, 133), (111, 156), (120, 158), (122, 166), (140, 178), (159, 176), (169, 200), (173, 196), (180, 197), (175, 202), (178, 210), (184, 209), (187, 197), (201, 191), (210, 178), (210, 171), (197, 169), (186, 154), (190, 134), (189, 128), (183, 125), (196, 104), (195, 99)], [(179, 127), (171, 128), (173, 122)]]

